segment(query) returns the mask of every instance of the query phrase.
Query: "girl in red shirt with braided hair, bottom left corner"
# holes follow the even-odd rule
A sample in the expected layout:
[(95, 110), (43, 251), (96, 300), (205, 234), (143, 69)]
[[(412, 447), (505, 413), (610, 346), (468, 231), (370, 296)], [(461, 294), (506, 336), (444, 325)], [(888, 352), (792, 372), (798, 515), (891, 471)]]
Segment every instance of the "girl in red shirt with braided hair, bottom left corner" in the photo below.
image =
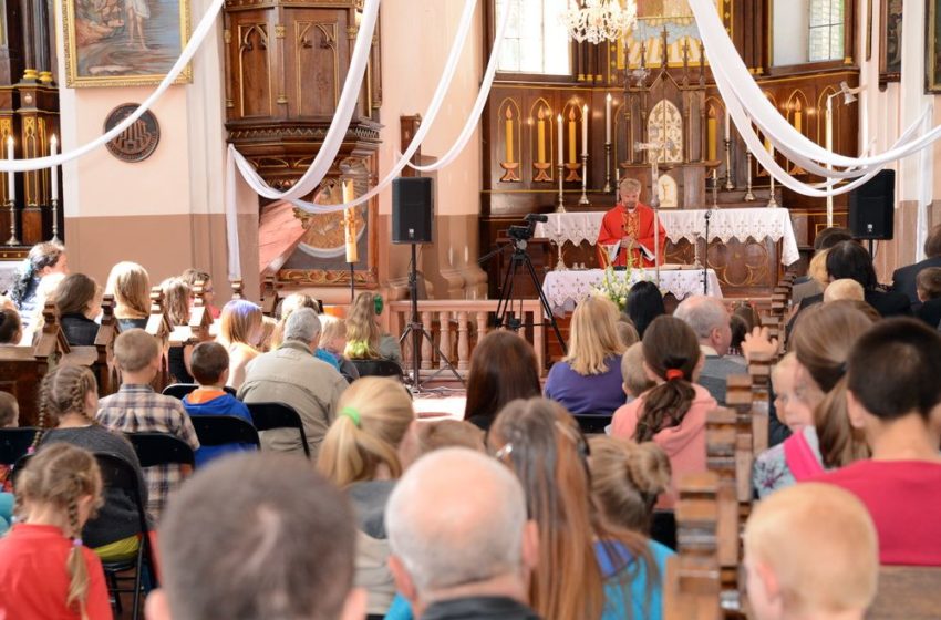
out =
[(41, 450), (20, 472), (19, 523), (0, 539), (0, 617), (112, 618), (101, 560), (82, 541), (101, 490), (94, 456), (66, 444)]

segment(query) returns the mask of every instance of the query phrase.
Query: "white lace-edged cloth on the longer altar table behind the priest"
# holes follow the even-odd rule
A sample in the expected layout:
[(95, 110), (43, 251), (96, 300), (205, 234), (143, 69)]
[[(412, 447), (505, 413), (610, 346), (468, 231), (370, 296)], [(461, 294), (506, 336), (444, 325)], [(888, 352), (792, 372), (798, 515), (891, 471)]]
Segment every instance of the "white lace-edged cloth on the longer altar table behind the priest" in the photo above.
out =
[[(663, 209), (660, 221), (666, 229), (666, 237), (678, 242), (686, 239), (694, 242), (705, 237), (706, 209)], [(582, 241), (594, 244), (604, 211), (581, 211), (547, 214), (549, 221), (536, 225), (536, 237), (570, 241), (576, 246)], [(710, 241), (718, 239), (728, 242), (732, 239), (744, 241), (749, 237), (755, 240), (769, 238), (783, 241), (780, 251), (782, 264), (790, 265), (800, 258), (797, 249), (797, 238), (790, 223), (790, 214), (783, 208), (744, 208), (744, 209), (712, 209), (710, 220)]]

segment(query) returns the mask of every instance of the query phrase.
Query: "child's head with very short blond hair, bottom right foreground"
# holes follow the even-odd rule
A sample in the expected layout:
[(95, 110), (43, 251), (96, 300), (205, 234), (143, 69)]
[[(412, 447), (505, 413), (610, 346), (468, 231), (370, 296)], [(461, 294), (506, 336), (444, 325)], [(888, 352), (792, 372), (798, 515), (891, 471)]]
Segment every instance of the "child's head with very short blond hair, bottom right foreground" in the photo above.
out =
[(876, 598), (876, 528), (841, 489), (800, 484), (774, 494), (756, 505), (744, 542), (757, 620), (861, 620)]

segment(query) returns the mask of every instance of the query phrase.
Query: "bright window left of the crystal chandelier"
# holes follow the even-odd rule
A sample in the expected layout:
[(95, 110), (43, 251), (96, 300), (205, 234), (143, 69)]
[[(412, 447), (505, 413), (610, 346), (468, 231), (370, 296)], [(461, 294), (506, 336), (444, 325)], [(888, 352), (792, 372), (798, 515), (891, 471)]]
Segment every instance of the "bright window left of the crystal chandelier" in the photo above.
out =
[[(567, 0), (495, 0), (497, 22), (509, 2), (509, 23), (500, 48), (498, 70), (505, 73), (569, 75), (571, 45), (559, 16)], [(499, 23), (495, 24), (496, 28)]]

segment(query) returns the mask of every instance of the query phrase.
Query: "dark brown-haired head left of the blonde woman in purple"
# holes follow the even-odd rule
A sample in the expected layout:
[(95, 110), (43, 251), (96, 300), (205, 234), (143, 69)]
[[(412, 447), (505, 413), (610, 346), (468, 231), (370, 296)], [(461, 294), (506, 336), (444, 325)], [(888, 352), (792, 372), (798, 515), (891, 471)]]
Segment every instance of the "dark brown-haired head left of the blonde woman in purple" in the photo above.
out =
[(539, 365), (531, 344), (505, 330), (480, 339), (471, 354), (464, 420), (486, 431), (504, 405), (539, 394)]

